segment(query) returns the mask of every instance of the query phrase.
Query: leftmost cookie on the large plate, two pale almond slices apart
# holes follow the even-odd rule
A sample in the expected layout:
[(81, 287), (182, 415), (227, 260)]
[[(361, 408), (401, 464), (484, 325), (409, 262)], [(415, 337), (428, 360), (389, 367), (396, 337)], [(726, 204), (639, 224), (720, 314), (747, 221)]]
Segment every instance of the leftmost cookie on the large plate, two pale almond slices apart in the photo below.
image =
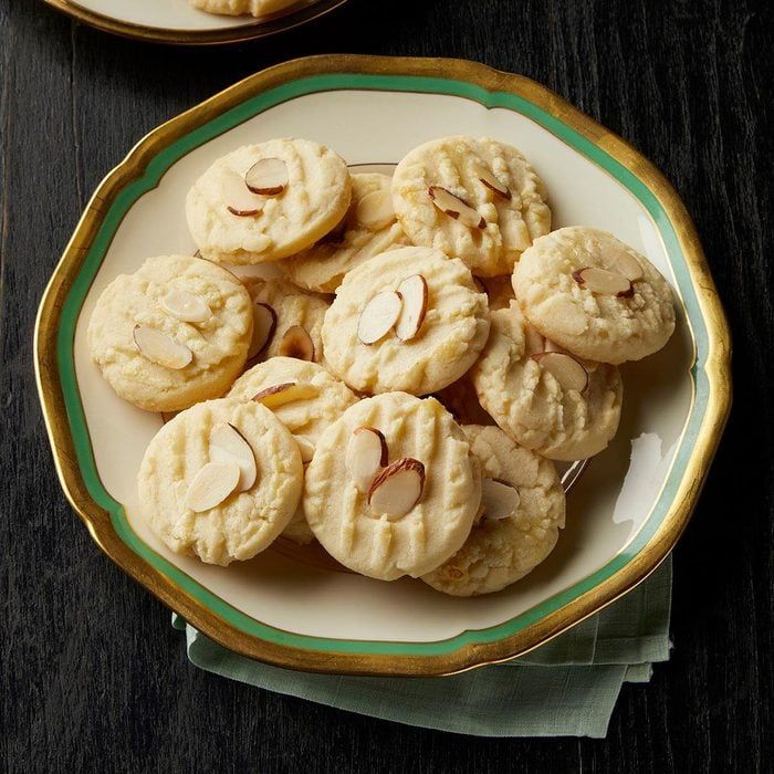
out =
[(226, 269), (190, 255), (149, 258), (102, 292), (88, 349), (111, 387), (148, 411), (219, 397), (242, 370), (250, 295)]

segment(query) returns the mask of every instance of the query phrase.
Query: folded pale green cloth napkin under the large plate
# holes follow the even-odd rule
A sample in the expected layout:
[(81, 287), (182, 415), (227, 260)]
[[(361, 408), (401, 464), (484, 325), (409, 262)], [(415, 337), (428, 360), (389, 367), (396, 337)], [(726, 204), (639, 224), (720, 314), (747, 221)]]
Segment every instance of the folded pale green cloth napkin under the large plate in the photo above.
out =
[(188, 658), (209, 672), (351, 712), (478, 736), (603, 738), (625, 682), (669, 659), (671, 556), (625, 597), (504, 665), (442, 678), (312, 674), (216, 645), (172, 615)]

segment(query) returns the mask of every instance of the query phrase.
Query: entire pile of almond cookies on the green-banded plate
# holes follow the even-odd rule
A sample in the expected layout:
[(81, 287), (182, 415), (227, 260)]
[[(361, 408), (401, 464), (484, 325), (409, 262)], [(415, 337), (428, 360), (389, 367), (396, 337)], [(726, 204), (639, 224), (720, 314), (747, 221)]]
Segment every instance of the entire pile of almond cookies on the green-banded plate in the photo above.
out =
[(652, 264), (552, 232), (543, 182), (494, 139), (427, 143), (393, 178), (310, 140), (247, 146), (186, 215), (197, 254), (114, 280), (88, 342), (122, 398), (165, 417), (144, 516), (208, 563), (282, 536), (384, 580), (508, 586), (564, 526), (552, 460), (607, 447), (618, 364), (674, 328)]

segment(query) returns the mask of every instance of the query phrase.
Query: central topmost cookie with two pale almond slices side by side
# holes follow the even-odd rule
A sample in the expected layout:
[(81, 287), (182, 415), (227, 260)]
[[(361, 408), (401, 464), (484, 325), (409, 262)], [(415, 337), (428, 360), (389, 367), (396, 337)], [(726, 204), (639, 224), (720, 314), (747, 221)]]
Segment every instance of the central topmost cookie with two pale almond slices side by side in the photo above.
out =
[(325, 313), (323, 348), (357, 390), (426, 395), (462, 376), (488, 333), (487, 296), (461, 261), (399, 248), (347, 273)]

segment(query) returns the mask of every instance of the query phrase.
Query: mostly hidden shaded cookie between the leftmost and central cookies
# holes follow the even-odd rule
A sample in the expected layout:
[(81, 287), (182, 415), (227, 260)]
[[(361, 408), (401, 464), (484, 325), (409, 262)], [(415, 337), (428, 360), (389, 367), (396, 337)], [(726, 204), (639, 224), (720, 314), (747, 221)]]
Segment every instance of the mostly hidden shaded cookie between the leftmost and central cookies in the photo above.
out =
[(253, 302), (249, 358), (276, 355), (323, 362), (321, 332), (331, 305), (284, 280), (245, 280)]

